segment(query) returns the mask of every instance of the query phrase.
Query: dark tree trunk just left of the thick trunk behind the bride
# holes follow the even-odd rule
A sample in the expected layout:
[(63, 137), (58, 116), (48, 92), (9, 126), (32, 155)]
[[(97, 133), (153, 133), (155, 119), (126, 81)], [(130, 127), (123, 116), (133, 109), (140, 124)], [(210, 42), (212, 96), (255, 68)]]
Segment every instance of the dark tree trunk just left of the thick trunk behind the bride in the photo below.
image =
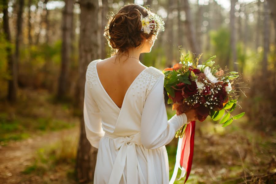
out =
[(62, 25), (62, 55), (61, 68), (59, 74), (58, 98), (63, 98), (68, 93), (69, 86), (69, 66), (71, 61), (72, 49), (72, 19), (73, 19), (73, 0), (66, 0), (63, 10), (63, 25)]

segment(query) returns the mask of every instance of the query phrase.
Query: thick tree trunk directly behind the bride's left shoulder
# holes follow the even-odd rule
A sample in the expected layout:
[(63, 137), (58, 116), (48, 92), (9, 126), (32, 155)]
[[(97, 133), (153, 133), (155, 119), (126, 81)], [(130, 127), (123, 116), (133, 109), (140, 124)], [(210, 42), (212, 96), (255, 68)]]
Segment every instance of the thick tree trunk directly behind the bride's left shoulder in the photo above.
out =
[(98, 10), (99, 4), (95, 0), (79, 2), (80, 38), (79, 38), (79, 79), (77, 82), (76, 99), (80, 109), (81, 119), (79, 147), (76, 160), (76, 171), (80, 182), (93, 181), (98, 149), (92, 147), (86, 138), (83, 120), (84, 86), (88, 64), (98, 58)]

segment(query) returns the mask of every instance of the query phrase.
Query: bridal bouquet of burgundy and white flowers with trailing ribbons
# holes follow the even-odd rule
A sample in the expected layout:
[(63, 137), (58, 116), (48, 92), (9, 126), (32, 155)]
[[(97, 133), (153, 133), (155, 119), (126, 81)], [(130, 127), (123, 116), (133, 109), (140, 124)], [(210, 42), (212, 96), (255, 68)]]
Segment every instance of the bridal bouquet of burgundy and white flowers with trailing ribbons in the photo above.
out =
[[(239, 75), (236, 71), (226, 72), (221, 70), (219, 65), (214, 66), (213, 59), (216, 56), (199, 65), (198, 60), (201, 55), (193, 61), (189, 60), (189, 53), (186, 56), (181, 55), (181, 62), (163, 70), (164, 87), (169, 97), (167, 103), (173, 103), (172, 109), (176, 110), (177, 115), (189, 109), (196, 109), (199, 121), (204, 121), (208, 116), (214, 121), (222, 117), (219, 123), (225, 127), (234, 119), (244, 115), (244, 112), (236, 116), (231, 114), (236, 108), (238, 97), (233, 79)], [(180, 166), (182, 170), (180, 178), (184, 177), (186, 171), (186, 180), (189, 177), (194, 149), (194, 130), (195, 121), (191, 121), (176, 132), (175, 137), (179, 137), (179, 140), (170, 184), (174, 182)]]

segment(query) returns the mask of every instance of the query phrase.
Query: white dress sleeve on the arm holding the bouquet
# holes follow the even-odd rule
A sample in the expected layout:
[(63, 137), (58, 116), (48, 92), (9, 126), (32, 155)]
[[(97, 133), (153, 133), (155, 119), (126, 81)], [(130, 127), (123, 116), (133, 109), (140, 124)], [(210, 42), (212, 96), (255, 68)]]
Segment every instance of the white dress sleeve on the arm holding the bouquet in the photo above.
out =
[(185, 113), (168, 121), (163, 94), (164, 75), (160, 75), (144, 104), (141, 117), (141, 142), (147, 149), (156, 149), (171, 142), (176, 131), (188, 123)]

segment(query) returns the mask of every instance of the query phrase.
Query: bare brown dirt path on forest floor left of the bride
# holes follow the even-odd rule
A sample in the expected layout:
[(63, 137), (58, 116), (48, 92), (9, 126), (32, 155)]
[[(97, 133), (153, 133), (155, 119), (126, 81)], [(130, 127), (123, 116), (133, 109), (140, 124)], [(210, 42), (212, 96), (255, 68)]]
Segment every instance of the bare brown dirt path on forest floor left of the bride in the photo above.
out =
[[(57, 132), (49, 132), (43, 136), (34, 136), (26, 140), (11, 142), (0, 148), (0, 183), (18, 184), (18, 183), (42, 183), (41, 177), (33, 174), (23, 174), (22, 172), (34, 162), (36, 150), (44, 145), (53, 144), (59, 141), (63, 136), (78, 137), (78, 128), (65, 129)], [(66, 177), (66, 169), (59, 173), (59, 176)], [(55, 183), (57, 175), (49, 176)], [(62, 177), (62, 176), (61, 176)]]

